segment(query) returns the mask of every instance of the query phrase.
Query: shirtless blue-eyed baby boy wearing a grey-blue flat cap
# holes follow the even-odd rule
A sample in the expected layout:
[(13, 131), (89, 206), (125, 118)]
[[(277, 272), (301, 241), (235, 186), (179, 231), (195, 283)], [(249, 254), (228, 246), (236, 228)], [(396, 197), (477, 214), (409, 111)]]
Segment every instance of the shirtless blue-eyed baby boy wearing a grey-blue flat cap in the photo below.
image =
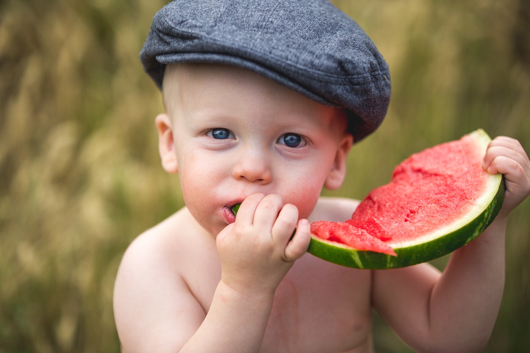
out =
[(490, 143), (484, 168), (505, 174), (502, 210), (443, 274), (341, 267), (306, 254), (309, 223), (354, 212), (357, 201), (321, 188), (341, 185), (352, 144), (390, 98), (386, 64), (357, 24), (324, 0), (176, 1), (141, 57), (162, 88), (162, 166), (179, 173), (186, 207), (123, 256), (124, 352), (370, 352), (372, 308), (418, 351), (484, 347), (506, 219), (530, 193), (516, 140)]

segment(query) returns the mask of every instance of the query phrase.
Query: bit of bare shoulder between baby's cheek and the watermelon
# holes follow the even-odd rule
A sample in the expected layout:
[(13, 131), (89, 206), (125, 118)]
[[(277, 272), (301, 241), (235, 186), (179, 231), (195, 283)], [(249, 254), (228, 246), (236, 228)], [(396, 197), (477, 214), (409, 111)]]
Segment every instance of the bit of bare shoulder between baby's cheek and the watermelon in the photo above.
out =
[(344, 222), (351, 218), (359, 203), (359, 200), (346, 197), (321, 196), (308, 221)]

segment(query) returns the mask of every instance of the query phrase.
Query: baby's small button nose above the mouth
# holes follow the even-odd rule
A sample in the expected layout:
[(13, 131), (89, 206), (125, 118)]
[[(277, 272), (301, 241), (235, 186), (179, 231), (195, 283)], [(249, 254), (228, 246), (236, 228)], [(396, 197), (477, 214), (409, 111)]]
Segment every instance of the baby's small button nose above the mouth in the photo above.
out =
[(261, 153), (249, 151), (241, 156), (233, 169), (235, 179), (246, 179), (251, 183), (269, 184), (272, 180), (269, 161)]

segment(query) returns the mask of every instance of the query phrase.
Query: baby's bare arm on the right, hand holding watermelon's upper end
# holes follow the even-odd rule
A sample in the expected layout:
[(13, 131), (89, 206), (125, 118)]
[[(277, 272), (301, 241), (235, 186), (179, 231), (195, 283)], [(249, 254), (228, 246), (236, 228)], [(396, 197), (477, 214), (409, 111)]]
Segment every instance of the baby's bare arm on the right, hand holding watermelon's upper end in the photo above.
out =
[(510, 138), (493, 140), (484, 158), (505, 174), (505, 202), (477, 239), (451, 256), (443, 274), (428, 264), (374, 272), (376, 309), (422, 352), (475, 352), (488, 342), (502, 298), (509, 212), (530, 193), (530, 161)]

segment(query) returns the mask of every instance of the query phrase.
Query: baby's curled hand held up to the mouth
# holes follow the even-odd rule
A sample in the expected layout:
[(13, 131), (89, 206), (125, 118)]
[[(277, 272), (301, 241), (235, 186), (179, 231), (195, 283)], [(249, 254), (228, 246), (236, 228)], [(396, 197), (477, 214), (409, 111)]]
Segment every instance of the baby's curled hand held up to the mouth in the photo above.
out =
[(221, 279), (241, 294), (273, 294), (310, 238), (309, 222), (298, 221), (296, 206), (284, 205), (279, 195), (252, 194), (217, 236)]

